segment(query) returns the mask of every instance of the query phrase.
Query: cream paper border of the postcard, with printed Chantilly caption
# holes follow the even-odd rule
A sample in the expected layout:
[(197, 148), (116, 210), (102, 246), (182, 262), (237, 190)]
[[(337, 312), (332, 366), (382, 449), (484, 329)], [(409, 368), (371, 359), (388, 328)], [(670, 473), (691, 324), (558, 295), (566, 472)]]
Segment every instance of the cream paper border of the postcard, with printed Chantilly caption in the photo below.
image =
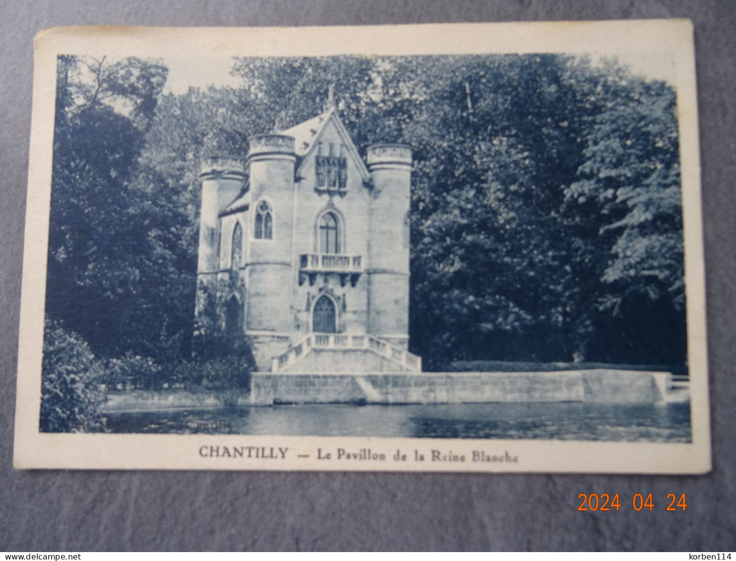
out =
[[(449, 440), (250, 435), (49, 434), (38, 431), (57, 54), (139, 57), (333, 54), (671, 53), (677, 107), (692, 443)], [(693, 27), (687, 20), (369, 27), (63, 27), (35, 38), (29, 184), (13, 461), (18, 468), (707, 473), (711, 469), (701, 188)], [(286, 459), (205, 457), (202, 446), (289, 448)], [(320, 460), (370, 448), (386, 461)], [(517, 462), (394, 460), (397, 450), (516, 456)], [(299, 457), (308, 456), (308, 457)], [(425, 456), (426, 457), (426, 456)], [(504, 456), (506, 457), (506, 456)]]

